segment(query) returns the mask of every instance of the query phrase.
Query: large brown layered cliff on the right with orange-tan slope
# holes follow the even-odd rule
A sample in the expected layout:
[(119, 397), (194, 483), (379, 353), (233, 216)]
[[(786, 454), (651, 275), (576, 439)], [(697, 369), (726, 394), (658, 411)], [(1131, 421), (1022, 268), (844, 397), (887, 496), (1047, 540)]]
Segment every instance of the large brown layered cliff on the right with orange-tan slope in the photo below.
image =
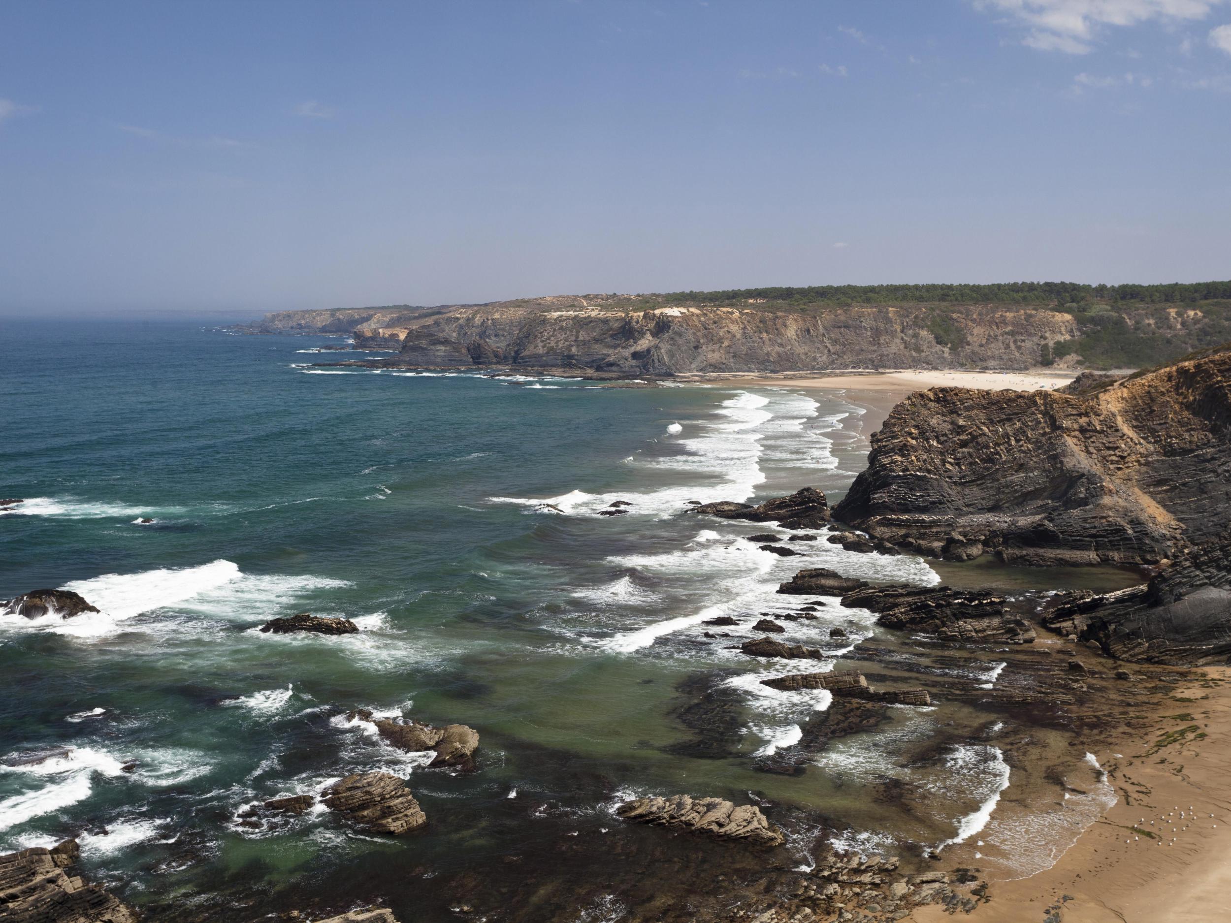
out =
[(1089, 395), (934, 388), (873, 436), (835, 517), (956, 560), (1158, 562), (1225, 528), (1229, 425), (1227, 347)]

